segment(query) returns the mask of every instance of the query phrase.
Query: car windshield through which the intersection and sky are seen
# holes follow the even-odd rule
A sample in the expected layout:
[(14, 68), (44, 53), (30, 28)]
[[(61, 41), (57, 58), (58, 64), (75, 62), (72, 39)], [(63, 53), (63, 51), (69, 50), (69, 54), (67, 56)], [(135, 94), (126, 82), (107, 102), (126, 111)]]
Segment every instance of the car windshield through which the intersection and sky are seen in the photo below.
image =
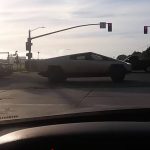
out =
[(149, 0), (0, 1), (0, 122), (150, 107)]

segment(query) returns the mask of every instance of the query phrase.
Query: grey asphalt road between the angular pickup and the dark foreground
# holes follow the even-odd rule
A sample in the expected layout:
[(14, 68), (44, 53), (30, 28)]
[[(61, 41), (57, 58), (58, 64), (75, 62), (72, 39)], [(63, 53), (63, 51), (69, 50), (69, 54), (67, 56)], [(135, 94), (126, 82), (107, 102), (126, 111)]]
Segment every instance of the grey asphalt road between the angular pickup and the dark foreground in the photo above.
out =
[[(110, 78), (68, 79), (52, 85), (36, 73), (0, 78), (0, 117), (49, 115), (80, 108), (150, 107), (150, 74), (132, 73), (123, 83)], [(16, 112), (17, 111), (17, 112)]]

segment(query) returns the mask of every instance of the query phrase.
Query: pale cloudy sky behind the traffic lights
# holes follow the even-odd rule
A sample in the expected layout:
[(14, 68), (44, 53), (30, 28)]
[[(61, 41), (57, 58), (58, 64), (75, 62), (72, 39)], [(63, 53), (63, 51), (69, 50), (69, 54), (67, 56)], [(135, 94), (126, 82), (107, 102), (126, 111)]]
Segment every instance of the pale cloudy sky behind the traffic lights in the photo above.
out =
[[(113, 32), (99, 26), (78, 28), (32, 41), (33, 57), (49, 58), (79, 52), (109, 57), (129, 55), (150, 46), (149, 0), (0, 0), (0, 52), (26, 55), (31, 36), (89, 23), (111, 22)], [(150, 28), (149, 28), (150, 30)], [(1, 54), (2, 55), (2, 54)]]

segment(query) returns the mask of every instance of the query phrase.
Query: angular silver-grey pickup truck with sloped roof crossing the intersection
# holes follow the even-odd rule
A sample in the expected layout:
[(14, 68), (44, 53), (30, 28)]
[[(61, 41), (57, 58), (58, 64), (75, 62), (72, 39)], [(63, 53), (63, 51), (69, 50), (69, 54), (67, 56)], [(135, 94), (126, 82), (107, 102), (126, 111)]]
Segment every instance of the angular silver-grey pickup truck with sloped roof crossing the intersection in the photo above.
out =
[(126, 73), (131, 72), (131, 64), (87, 52), (41, 60), (38, 70), (50, 82), (63, 81), (69, 77), (104, 76), (120, 82), (124, 80)]

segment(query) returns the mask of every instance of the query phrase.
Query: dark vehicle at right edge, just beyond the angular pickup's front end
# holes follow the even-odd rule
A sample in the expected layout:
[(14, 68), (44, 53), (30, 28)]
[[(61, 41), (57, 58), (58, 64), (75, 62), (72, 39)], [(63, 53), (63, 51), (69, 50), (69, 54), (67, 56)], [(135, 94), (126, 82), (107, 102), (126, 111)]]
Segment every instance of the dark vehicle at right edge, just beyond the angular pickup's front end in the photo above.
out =
[(144, 70), (145, 72), (150, 72), (150, 59), (140, 59), (138, 56), (130, 56), (125, 62), (131, 63), (133, 70)]

